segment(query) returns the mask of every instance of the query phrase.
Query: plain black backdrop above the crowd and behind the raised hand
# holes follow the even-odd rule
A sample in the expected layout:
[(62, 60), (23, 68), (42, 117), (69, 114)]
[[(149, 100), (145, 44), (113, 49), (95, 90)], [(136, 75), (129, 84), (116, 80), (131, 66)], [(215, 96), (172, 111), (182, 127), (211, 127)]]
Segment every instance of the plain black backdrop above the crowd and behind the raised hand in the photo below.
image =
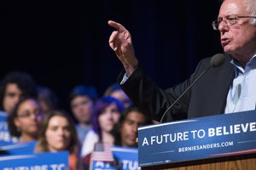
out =
[(212, 20), (219, 1), (4, 1), (0, 3), (0, 79), (26, 71), (52, 88), (67, 107), (78, 85), (99, 94), (122, 69), (108, 37), (108, 20), (125, 26), (137, 58), (160, 88), (184, 81), (202, 58), (222, 53)]

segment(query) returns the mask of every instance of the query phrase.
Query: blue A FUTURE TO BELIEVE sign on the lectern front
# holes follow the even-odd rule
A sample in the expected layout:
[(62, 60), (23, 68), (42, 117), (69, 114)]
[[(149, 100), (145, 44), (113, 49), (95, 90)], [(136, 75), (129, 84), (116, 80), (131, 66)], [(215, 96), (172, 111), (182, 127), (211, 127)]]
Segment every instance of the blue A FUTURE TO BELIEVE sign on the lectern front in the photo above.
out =
[(256, 111), (138, 128), (139, 166), (256, 152)]

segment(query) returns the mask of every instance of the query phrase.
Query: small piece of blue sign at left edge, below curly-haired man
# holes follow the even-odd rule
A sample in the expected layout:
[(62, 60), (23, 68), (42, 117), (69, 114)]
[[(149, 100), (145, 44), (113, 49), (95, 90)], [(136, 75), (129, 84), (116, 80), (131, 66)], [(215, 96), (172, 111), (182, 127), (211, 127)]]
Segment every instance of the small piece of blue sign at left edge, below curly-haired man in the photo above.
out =
[(3, 111), (0, 111), (0, 146), (6, 144), (15, 144), (18, 139), (12, 137), (9, 134), (8, 123), (6, 122), (7, 114)]

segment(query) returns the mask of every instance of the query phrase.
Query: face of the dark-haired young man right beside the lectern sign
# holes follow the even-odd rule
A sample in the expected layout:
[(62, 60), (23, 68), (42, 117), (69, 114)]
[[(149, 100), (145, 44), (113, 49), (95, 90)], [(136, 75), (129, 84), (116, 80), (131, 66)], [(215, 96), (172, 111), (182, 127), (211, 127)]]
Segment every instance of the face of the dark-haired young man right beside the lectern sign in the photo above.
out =
[(131, 111), (125, 118), (121, 127), (121, 143), (125, 147), (137, 146), (137, 127), (144, 125), (146, 116), (137, 111)]

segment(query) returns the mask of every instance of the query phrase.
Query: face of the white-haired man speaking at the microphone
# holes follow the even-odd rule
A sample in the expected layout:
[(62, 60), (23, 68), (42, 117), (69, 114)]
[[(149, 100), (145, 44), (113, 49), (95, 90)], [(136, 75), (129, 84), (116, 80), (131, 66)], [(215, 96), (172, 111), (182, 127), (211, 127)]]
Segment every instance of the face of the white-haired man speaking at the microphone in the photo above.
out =
[[(225, 19), (230, 15), (248, 16), (245, 6), (241, 0), (225, 0), (222, 4), (218, 18)], [(236, 56), (253, 55), (256, 47), (256, 27), (249, 24), (248, 18), (238, 19), (233, 26), (227, 26), (222, 21), (218, 30), (220, 31), (221, 44), (224, 52)], [(241, 59), (238, 58), (241, 61)]]

